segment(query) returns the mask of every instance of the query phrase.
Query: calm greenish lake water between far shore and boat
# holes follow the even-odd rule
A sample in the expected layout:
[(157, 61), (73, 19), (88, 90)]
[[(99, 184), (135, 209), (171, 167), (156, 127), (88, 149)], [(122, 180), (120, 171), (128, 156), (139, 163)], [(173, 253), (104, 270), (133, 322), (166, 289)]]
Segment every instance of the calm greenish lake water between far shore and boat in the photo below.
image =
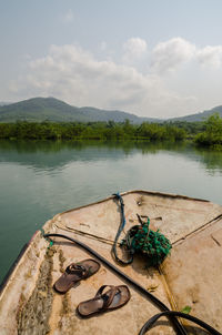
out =
[(188, 144), (0, 142), (0, 282), (54, 214), (150, 190), (222, 204), (222, 153)]

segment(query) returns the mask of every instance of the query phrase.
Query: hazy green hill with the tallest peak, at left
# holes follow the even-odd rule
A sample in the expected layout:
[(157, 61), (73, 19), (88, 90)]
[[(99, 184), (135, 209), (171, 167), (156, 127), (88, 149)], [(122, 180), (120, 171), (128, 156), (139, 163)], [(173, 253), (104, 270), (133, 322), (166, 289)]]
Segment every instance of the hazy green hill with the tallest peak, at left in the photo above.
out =
[(117, 110), (107, 111), (91, 106), (77, 108), (54, 98), (33, 98), (0, 106), (0, 122), (123, 122), (125, 119), (132, 123), (158, 122), (158, 119), (139, 118)]

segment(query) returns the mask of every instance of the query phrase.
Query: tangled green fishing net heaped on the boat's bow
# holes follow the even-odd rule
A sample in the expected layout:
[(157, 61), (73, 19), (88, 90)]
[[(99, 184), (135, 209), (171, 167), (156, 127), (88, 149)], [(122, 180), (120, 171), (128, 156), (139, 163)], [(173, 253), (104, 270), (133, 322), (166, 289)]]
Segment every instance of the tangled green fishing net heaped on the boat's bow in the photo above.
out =
[(141, 225), (132, 226), (127, 233), (125, 238), (122, 240), (121, 246), (127, 247), (131, 254), (144, 254), (148, 266), (158, 266), (169, 255), (172, 245), (159, 230), (154, 232), (149, 226), (149, 217)]

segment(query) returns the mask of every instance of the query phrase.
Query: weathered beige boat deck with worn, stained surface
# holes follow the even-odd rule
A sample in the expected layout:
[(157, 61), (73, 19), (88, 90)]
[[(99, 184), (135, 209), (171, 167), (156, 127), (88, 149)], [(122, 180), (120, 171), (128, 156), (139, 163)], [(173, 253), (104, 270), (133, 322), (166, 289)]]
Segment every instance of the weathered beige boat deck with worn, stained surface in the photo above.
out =
[[(127, 192), (122, 196), (125, 230), (138, 223), (137, 213), (148, 215), (151, 227), (160, 229), (173, 243), (173, 248), (159, 271), (145, 270), (141, 257), (137, 257), (132, 265), (120, 268), (169, 308), (181, 311), (189, 305), (192, 315), (222, 332), (222, 206), (145, 191)], [(110, 251), (119, 224), (119, 206), (113, 197), (109, 197), (58, 214), (43, 229), (48, 233), (73, 236), (114, 264)], [(129, 286), (132, 297), (122, 308), (88, 319), (80, 318), (75, 313), (78, 304), (92, 297), (101, 285), (125, 283), (102, 265), (95, 275), (82, 281), (65, 295), (57, 294), (52, 285), (64, 268), (90, 255), (64, 240), (56, 241), (48, 248), (49, 243), (38, 232), (2, 290), (2, 335), (137, 335), (143, 323), (160, 312)], [(149, 334), (174, 334), (174, 331), (163, 318)], [(196, 327), (196, 334), (206, 333)]]

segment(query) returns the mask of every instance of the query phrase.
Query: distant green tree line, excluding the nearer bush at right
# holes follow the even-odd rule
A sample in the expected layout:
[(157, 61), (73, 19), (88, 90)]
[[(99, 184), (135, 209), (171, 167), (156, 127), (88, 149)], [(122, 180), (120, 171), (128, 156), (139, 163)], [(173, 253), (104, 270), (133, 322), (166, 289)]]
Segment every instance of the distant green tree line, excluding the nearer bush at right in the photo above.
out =
[(162, 125), (143, 122), (140, 125), (123, 123), (88, 122), (16, 122), (0, 123), (0, 139), (29, 140), (147, 140), (147, 141), (181, 141), (185, 131), (174, 125)]

